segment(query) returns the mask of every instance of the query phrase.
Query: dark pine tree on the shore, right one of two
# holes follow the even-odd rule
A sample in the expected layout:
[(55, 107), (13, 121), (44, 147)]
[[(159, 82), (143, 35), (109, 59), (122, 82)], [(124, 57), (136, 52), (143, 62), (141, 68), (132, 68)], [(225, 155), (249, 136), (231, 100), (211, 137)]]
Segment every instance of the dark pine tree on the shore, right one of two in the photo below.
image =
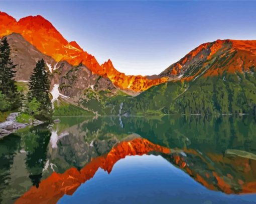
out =
[(46, 72), (44, 59), (37, 62), (29, 82), (29, 101), (36, 98), (40, 102), (39, 119), (50, 119), (52, 116), (52, 104), (49, 97), (50, 80)]

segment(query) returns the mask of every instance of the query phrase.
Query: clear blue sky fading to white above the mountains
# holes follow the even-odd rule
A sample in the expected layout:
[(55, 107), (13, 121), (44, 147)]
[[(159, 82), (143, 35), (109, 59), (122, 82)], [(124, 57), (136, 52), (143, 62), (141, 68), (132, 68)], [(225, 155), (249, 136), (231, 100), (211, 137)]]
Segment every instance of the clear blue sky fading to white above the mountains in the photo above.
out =
[(256, 39), (256, 1), (0, 1), (19, 19), (40, 14), (102, 63), (158, 74), (201, 43)]

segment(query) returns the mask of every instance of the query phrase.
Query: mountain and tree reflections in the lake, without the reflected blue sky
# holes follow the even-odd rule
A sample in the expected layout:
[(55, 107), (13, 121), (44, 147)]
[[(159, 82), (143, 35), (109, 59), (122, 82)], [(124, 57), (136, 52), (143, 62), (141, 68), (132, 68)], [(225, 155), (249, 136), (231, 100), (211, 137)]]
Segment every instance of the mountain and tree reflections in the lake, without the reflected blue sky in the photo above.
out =
[(256, 132), (250, 115), (121, 117), (122, 125), (119, 116), (60, 119), (0, 140), (1, 203), (39, 197), (57, 202), (98, 168), (110, 172), (119, 159), (142, 154), (161, 155), (209, 190), (256, 191)]

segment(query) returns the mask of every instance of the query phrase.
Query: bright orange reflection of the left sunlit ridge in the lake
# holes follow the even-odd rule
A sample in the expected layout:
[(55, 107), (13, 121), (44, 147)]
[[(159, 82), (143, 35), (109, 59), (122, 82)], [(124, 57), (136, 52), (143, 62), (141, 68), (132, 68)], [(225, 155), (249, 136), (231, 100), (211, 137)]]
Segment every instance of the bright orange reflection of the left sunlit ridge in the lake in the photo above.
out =
[(81, 183), (94, 176), (98, 168), (110, 173), (113, 165), (126, 155), (143, 155), (151, 151), (170, 153), (169, 148), (154, 144), (147, 139), (122, 141), (106, 155), (93, 158), (80, 171), (72, 167), (64, 173), (53, 172), (42, 180), (38, 188), (32, 186), (16, 203), (56, 203), (64, 194), (72, 195)]

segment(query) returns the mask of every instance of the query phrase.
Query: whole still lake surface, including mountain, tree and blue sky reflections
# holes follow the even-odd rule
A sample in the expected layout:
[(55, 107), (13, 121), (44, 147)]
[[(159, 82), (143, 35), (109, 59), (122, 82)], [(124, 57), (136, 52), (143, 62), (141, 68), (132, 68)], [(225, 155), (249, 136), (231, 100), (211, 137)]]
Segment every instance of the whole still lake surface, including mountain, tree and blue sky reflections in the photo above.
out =
[(60, 119), (0, 140), (1, 203), (256, 200), (250, 115)]

